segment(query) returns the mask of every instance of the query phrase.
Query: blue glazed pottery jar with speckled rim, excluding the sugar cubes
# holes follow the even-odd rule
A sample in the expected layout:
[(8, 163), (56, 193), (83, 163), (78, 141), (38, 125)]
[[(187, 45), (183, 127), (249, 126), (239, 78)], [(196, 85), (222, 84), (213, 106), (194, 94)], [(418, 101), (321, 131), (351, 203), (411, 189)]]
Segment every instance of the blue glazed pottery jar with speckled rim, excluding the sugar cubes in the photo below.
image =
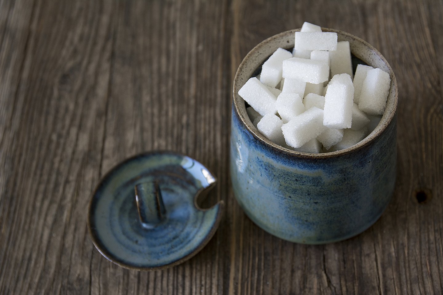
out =
[(262, 229), (284, 240), (324, 244), (351, 238), (371, 226), (387, 207), (396, 177), (396, 78), (385, 58), (364, 40), (343, 31), (354, 57), (390, 74), (391, 88), (380, 123), (358, 144), (330, 153), (301, 153), (265, 138), (249, 119), (238, 90), (278, 48), (291, 50), (286, 31), (258, 44), (237, 69), (233, 83), (230, 170), (234, 195)]

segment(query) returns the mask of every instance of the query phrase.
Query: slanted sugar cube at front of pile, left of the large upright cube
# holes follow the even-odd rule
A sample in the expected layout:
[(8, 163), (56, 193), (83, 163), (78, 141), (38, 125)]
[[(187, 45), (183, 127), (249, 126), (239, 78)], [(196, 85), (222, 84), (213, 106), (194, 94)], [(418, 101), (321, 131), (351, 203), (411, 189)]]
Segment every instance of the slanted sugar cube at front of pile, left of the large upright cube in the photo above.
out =
[(284, 124), (281, 129), (288, 146), (299, 148), (326, 129), (323, 126), (323, 110), (311, 107)]

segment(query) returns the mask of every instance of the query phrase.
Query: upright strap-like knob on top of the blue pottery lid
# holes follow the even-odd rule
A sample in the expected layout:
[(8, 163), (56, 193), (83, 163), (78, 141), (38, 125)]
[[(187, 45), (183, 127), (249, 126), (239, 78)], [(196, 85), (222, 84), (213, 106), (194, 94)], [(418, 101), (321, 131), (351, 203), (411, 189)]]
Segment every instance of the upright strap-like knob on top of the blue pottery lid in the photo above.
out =
[(141, 225), (153, 229), (166, 215), (159, 185), (155, 181), (136, 184), (135, 193)]

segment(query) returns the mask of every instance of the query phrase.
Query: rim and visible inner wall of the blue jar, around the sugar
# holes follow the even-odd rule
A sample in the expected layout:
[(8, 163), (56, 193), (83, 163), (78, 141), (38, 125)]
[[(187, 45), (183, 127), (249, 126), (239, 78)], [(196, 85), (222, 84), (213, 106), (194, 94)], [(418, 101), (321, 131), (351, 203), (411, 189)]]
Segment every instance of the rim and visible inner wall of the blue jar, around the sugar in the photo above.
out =
[(275, 143), (268, 140), (268, 138), (265, 138), (256, 129), (256, 127), (249, 119), (249, 116), (246, 113), (245, 101), (238, 95), (238, 90), (240, 90), (240, 88), (246, 83), (249, 78), (258, 74), (261, 65), (278, 47), (291, 50), (292, 47), (294, 47), (295, 32), (300, 31), (300, 29), (285, 31), (280, 34), (276, 34), (255, 46), (251, 51), (249, 51), (249, 53), (239, 65), (233, 83), (234, 107), (237, 111), (237, 114), (239, 115), (240, 120), (246, 126), (249, 132), (251, 132), (251, 134), (253, 134), (256, 138), (259, 138), (273, 148), (280, 149), (283, 152), (292, 153), (301, 157), (331, 157), (344, 153), (350, 153), (356, 149), (361, 148), (362, 146), (367, 145), (374, 138), (377, 138), (377, 136), (381, 134), (383, 130), (386, 129), (388, 124), (392, 121), (396, 112), (398, 100), (398, 90), (395, 75), (388, 61), (386, 61), (385, 57), (383, 57), (383, 55), (381, 55), (381, 53), (378, 52), (377, 49), (371, 46), (368, 42), (352, 34), (329, 28), (322, 28), (322, 30), (324, 32), (336, 32), (338, 35), (338, 41), (349, 41), (351, 53), (355, 57), (357, 57), (367, 65), (371, 65), (374, 68), (382, 69), (383, 71), (389, 73), (391, 77), (391, 88), (389, 89), (388, 101), (381, 121), (378, 126), (361, 142), (358, 142), (354, 146), (351, 146), (347, 149), (341, 149), (330, 153), (296, 152), (294, 150), (286, 149), (282, 146), (276, 145)]

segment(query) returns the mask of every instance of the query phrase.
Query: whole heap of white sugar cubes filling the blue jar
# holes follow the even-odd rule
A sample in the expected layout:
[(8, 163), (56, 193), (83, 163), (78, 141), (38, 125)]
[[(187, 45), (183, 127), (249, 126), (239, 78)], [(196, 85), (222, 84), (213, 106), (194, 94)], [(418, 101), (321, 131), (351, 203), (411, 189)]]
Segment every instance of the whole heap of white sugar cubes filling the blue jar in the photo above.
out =
[(278, 48), (238, 94), (266, 138), (322, 153), (353, 146), (375, 129), (390, 84), (389, 73), (369, 65), (358, 65), (354, 75), (349, 42), (305, 22), (292, 53)]

